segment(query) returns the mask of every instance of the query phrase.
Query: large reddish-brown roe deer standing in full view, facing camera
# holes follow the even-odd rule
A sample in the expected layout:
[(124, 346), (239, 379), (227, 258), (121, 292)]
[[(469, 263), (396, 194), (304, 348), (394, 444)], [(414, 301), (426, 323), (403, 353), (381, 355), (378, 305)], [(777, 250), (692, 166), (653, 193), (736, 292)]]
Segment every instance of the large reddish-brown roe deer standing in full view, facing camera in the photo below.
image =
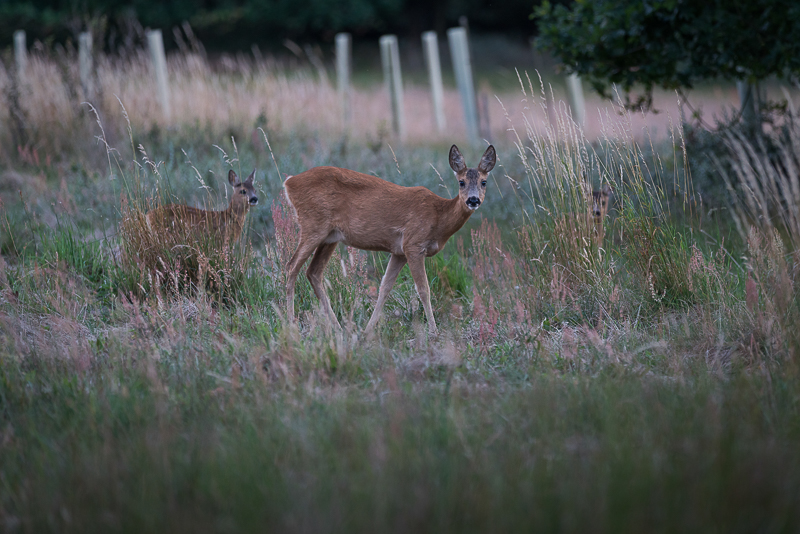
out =
[(375, 311), (367, 323), (368, 334), (378, 324), (386, 298), (406, 263), (425, 308), (428, 329), (435, 334), (425, 258), (439, 252), (481, 205), (486, 194), (486, 175), (494, 168), (496, 159), (490, 145), (478, 167), (468, 169), (464, 156), (453, 145), (450, 167), (459, 189), (458, 196), (449, 200), (424, 187), (402, 187), (337, 167), (316, 167), (287, 178), (283, 184), (286, 197), (300, 225), (300, 242), (287, 267), (286, 302), (290, 320), (294, 320), (297, 275), (313, 253), (306, 276), (331, 323), (339, 326), (325, 292), (322, 271), (341, 241), (362, 250), (392, 254), (381, 280)]

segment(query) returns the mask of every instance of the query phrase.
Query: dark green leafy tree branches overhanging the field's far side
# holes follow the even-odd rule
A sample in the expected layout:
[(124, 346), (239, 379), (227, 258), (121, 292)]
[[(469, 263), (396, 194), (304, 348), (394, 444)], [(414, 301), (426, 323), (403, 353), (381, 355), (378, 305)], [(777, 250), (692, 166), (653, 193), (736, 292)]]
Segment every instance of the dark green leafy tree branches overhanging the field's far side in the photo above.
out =
[[(637, 107), (650, 107), (655, 86), (722, 78), (752, 87), (800, 73), (797, 0), (545, 0), (533, 18), (537, 46), (603, 96), (618, 84)], [(634, 84), (644, 92), (632, 101)]]

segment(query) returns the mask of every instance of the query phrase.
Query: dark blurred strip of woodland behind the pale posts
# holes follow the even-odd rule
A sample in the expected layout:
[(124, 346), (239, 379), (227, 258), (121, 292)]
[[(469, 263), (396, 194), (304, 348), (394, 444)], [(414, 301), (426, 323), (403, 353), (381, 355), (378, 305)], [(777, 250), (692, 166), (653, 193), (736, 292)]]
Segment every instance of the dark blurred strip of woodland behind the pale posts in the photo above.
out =
[(284, 39), (332, 40), (336, 32), (356, 38), (380, 33), (444, 31), (466, 16), (478, 31), (527, 38), (533, 32), (530, 0), (9, 0), (0, 3), (0, 42), (15, 30), (32, 39), (65, 41), (81, 31), (105, 34), (113, 50), (137, 23), (171, 28), (188, 21), (209, 50), (278, 46)]

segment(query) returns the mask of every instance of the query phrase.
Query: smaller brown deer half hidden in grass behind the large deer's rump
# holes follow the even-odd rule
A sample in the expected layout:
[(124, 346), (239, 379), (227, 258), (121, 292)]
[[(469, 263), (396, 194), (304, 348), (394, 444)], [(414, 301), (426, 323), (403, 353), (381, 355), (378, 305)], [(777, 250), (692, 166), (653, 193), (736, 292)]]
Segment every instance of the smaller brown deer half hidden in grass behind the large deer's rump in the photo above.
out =
[(228, 181), (233, 186), (228, 209), (209, 211), (182, 204), (168, 204), (149, 211), (147, 225), (155, 232), (178, 229), (187, 235), (203, 232), (208, 236), (221, 237), (225, 243), (237, 241), (244, 228), (244, 216), (250, 206), (258, 204), (253, 188), (255, 174), (253, 169), (244, 182), (239, 182), (233, 169), (228, 172)]

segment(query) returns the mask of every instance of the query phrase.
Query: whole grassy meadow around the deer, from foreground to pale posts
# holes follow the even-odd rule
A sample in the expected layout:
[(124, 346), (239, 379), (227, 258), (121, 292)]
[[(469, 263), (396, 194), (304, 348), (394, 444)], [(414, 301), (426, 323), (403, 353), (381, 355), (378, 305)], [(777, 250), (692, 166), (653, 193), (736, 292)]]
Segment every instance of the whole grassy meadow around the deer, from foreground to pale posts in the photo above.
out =
[[(424, 86), (401, 143), (380, 86), (347, 127), (302, 62), (175, 54), (167, 121), (145, 55), (101, 58), (92, 105), (74, 59), (34, 54), (17, 91), (0, 71), (3, 531), (800, 527), (791, 117), (781, 166), (726, 138), (738, 193), (709, 209), (678, 117), (648, 135), (604, 104), (583, 135), (535, 73), (487, 82), (486, 201), (427, 260), (440, 334), (405, 269), (370, 342), (386, 254), (336, 252), (341, 331), (303, 277), (285, 316), (281, 184), (336, 165), (454, 196), (450, 145), (470, 166), (485, 145), (437, 134)], [(240, 242), (148, 241), (148, 209), (222, 209), (254, 167)]]

